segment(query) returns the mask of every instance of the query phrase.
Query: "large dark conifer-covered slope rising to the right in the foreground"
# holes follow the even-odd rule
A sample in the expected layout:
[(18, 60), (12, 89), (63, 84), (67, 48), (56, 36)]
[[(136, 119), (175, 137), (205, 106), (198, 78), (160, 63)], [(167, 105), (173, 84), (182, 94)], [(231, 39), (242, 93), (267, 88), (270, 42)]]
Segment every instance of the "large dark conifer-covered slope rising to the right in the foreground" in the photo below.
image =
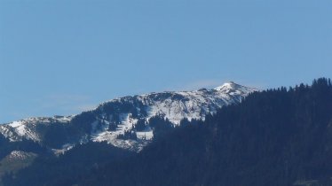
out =
[[(59, 176), (57, 165), (28, 167), (16, 177), (7, 176), (5, 185), (332, 185), (329, 79), (256, 92), (205, 121), (184, 120), (180, 127), (166, 129), (125, 159), (78, 175), (73, 169), (75, 176)], [(73, 159), (60, 171), (70, 173)], [(89, 167), (85, 161), (82, 165)], [(43, 172), (50, 174), (47, 180), (40, 180)]]

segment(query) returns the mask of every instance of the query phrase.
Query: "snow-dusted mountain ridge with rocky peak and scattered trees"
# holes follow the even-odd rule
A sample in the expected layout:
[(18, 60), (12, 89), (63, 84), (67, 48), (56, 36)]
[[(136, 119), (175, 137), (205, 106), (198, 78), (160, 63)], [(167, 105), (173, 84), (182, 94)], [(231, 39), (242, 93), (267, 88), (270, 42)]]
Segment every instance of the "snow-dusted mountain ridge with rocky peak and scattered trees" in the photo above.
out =
[(224, 105), (240, 103), (253, 91), (257, 89), (231, 81), (216, 89), (120, 97), (77, 115), (29, 118), (0, 125), (0, 134), (10, 142), (25, 139), (41, 143), (55, 153), (90, 141), (107, 141), (139, 151), (158, 132), (151, 124), (154, 117), (162, 118), (170, 126), (177, 126), (184, 119), (204, 120)]

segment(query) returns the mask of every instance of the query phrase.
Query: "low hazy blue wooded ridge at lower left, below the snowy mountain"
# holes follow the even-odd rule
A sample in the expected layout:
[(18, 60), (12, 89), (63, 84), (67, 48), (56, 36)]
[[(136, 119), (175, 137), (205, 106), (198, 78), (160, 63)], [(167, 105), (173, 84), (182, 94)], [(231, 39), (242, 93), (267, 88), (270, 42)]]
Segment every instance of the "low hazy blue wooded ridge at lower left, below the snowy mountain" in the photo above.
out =
[(127, 159), (133, 154), (106, 142), (78, 144), (59, 157), (39, 156), (33, 165), (18, 174), (4, 175), (2, 182), (4, 185), (73, 185), (105, 162)]

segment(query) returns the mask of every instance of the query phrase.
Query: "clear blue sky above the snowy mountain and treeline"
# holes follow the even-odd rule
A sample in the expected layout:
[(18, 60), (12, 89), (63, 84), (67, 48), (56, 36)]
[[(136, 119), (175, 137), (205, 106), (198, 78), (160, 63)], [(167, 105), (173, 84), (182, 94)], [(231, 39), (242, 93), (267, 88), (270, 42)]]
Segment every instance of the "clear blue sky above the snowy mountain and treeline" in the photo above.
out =
[(0, 0), (0, 123), (151, 91), (332, 77), (332, 1)]

